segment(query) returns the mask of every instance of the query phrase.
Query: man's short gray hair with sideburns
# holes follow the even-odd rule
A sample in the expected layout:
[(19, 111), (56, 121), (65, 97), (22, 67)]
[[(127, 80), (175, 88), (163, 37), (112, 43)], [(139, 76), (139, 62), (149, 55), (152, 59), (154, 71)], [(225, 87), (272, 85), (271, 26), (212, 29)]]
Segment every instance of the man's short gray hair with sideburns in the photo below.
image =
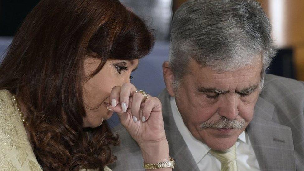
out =
[(194, 59), (202, 66), (232, 71), (259, 60), (264, 73), (275, 50), (271, 24), (254, 0), (189, 0), (175, 12), (170, 39), (170, 68), (174, 88), (188, 74)]

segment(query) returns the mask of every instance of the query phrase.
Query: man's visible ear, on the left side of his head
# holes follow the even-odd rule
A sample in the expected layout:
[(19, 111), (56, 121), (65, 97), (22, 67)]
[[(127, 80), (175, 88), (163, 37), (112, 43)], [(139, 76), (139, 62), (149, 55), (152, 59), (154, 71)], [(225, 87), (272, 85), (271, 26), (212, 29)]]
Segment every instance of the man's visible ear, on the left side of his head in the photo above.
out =
[(174, 89), (172, 87), (172, 83), (173, 83), (173, 80), (174, 80), (174, 75), (173, 75), (173, 72), (172, 72), (172, 70), (169, 66), (168, 61), (165, 61), (163, 63), (163, 75), (164, 75), (164, 81), (165, 81), (168, 93), (170, 94), (170, 96), (175, 96)]

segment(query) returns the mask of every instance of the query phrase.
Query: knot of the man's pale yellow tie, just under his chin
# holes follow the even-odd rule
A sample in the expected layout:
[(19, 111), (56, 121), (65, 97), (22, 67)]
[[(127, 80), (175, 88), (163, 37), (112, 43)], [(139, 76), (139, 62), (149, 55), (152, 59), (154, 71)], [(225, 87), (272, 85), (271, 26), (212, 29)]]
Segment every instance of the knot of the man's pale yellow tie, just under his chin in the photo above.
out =
[(211, 149), (209, 153), (212, 154), (216, 159), (220, 160), (222, 164), (225, 164), (236, 160), (236, 144), (226, 151), (217, 151)]

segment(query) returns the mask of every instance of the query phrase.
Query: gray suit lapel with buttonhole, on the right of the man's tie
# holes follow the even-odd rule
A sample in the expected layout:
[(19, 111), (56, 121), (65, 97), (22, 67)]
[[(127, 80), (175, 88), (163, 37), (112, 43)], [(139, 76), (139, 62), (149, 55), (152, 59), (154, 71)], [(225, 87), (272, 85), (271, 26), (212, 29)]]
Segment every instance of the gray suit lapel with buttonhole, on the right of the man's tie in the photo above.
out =
[(296, 170), (291, 128), (272, 122), (275, 108), (259, 97), (247, 129), (261, 170)]

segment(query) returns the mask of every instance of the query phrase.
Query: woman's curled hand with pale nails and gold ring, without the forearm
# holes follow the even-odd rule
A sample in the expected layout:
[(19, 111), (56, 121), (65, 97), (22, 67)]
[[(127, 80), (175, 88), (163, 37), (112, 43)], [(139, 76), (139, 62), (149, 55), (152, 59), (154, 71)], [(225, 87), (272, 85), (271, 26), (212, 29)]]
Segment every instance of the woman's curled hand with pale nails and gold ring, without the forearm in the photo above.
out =
[(161, 102), (158, 98), (137, 92), (131, 83), (112, 88), (111, 105), (121, 124), (139, 145), (166, 140)]

